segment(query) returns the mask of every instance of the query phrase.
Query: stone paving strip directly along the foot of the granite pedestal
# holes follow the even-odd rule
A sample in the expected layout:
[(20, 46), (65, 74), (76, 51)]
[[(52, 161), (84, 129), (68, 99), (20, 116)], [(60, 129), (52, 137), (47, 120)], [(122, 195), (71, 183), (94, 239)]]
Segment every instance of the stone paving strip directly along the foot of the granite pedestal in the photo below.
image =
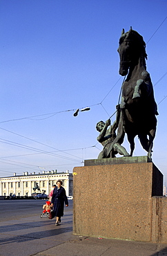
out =
[(167, 244), (149, 244), (136, 241), (98, 239), (71, 236), (58, 246), (33, 256), (162, 256), (167, 255)]

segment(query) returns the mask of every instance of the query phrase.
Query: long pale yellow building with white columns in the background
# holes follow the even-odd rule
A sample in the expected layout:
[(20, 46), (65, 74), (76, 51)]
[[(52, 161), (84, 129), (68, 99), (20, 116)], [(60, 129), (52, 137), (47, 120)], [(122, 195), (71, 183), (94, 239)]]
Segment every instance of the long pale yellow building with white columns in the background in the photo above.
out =
[(0, 196), (31, 196), (35, 191), (37, 185), (40, 188), (36, 192), (49, 194), (52, 186), (58, 180), (63, 182), (63, 188), (66, 190), (67, 196), (72, 196), (72, 174), (68, 171), (57, 173), (57, 171), (43, 171), (42, 173), (35, 174), (35, 172), (28, 174), (23, 172), (22, 175), (8, 176), (0, 178)]

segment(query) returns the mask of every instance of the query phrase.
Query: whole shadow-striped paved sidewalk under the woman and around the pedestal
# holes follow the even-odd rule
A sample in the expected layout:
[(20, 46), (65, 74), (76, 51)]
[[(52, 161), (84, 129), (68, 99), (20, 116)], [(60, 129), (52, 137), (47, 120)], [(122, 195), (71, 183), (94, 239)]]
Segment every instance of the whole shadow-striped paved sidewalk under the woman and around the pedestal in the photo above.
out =
[(167, 244), (72, 235), (72, 210), (61, 226), (35, 215), (1, 221), (0, 256), (162, 256)]

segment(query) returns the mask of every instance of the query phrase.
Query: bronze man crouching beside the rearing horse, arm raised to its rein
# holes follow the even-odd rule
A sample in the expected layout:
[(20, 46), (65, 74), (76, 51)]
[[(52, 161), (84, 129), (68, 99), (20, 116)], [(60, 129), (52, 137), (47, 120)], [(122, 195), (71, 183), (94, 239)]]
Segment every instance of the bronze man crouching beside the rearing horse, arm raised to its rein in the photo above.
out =
[[(116, 138), (115, 130), (118, 127), (119, 123), (119, 116), (120, 116), (120, 109), (119, 105), (117, 105), (117, 118), (113, 125), (110, 125), (110, 119), (104, 121), (97, 122), (96, 129), (100, 132), (97, 140), (101, 145), (104, 146), (104, 149), (100, 152), (98, 158), (114, 158), (115, 154), (120, 154), (123, 156), (130, 156), (126, 149), (121, 146), (123, 141), (118, 140), (114, 143)], [(109, 127), (110, 126), (110, 127)], [(109, 127), (109, 128), (108, 128)]]

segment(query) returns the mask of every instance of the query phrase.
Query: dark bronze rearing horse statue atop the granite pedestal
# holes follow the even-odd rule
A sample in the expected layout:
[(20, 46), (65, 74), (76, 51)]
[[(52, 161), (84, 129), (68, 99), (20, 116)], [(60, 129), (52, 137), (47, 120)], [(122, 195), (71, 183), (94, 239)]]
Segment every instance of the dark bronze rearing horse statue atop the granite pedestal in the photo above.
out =
[[(137, 31), (121, 33), (118, 53), (120, 57), (119, 74), (127, 75), (122, 84), (121, 115), (117, 140), (127, 134), (130, 143), (130, 156), (135, 149), (135, 136), (138, 135), (142, 147), (151, 158), (153, 140), (157, 127), (157, 104), (154, 98), (153, 84), (146, 71), (146, 44)], [(114, 143), (115, 143), (114, 141)]]

